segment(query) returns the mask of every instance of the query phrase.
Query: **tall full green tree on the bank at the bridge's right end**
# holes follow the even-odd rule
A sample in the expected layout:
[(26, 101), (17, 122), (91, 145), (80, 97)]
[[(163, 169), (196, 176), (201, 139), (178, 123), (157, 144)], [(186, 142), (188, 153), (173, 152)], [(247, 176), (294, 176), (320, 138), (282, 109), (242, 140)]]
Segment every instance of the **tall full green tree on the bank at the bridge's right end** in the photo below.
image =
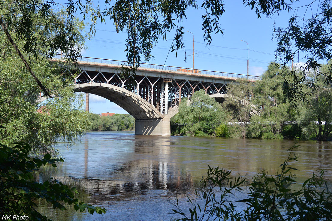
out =
[[(251, 118), (251, 137), (259, 136), (263, 132), (264, 138), (282, 138), (282, 129), (285, 123), (291, 120), (292, 109), (282, 88), (281, 73), (287, 71), (288, 68), (271, 62), (263, 73), (262, 80), (256, 81), (252, 102), (259, 107), (260, 115)], [(254, 128), (260, 128), (261, 131), (255, 133)]]

